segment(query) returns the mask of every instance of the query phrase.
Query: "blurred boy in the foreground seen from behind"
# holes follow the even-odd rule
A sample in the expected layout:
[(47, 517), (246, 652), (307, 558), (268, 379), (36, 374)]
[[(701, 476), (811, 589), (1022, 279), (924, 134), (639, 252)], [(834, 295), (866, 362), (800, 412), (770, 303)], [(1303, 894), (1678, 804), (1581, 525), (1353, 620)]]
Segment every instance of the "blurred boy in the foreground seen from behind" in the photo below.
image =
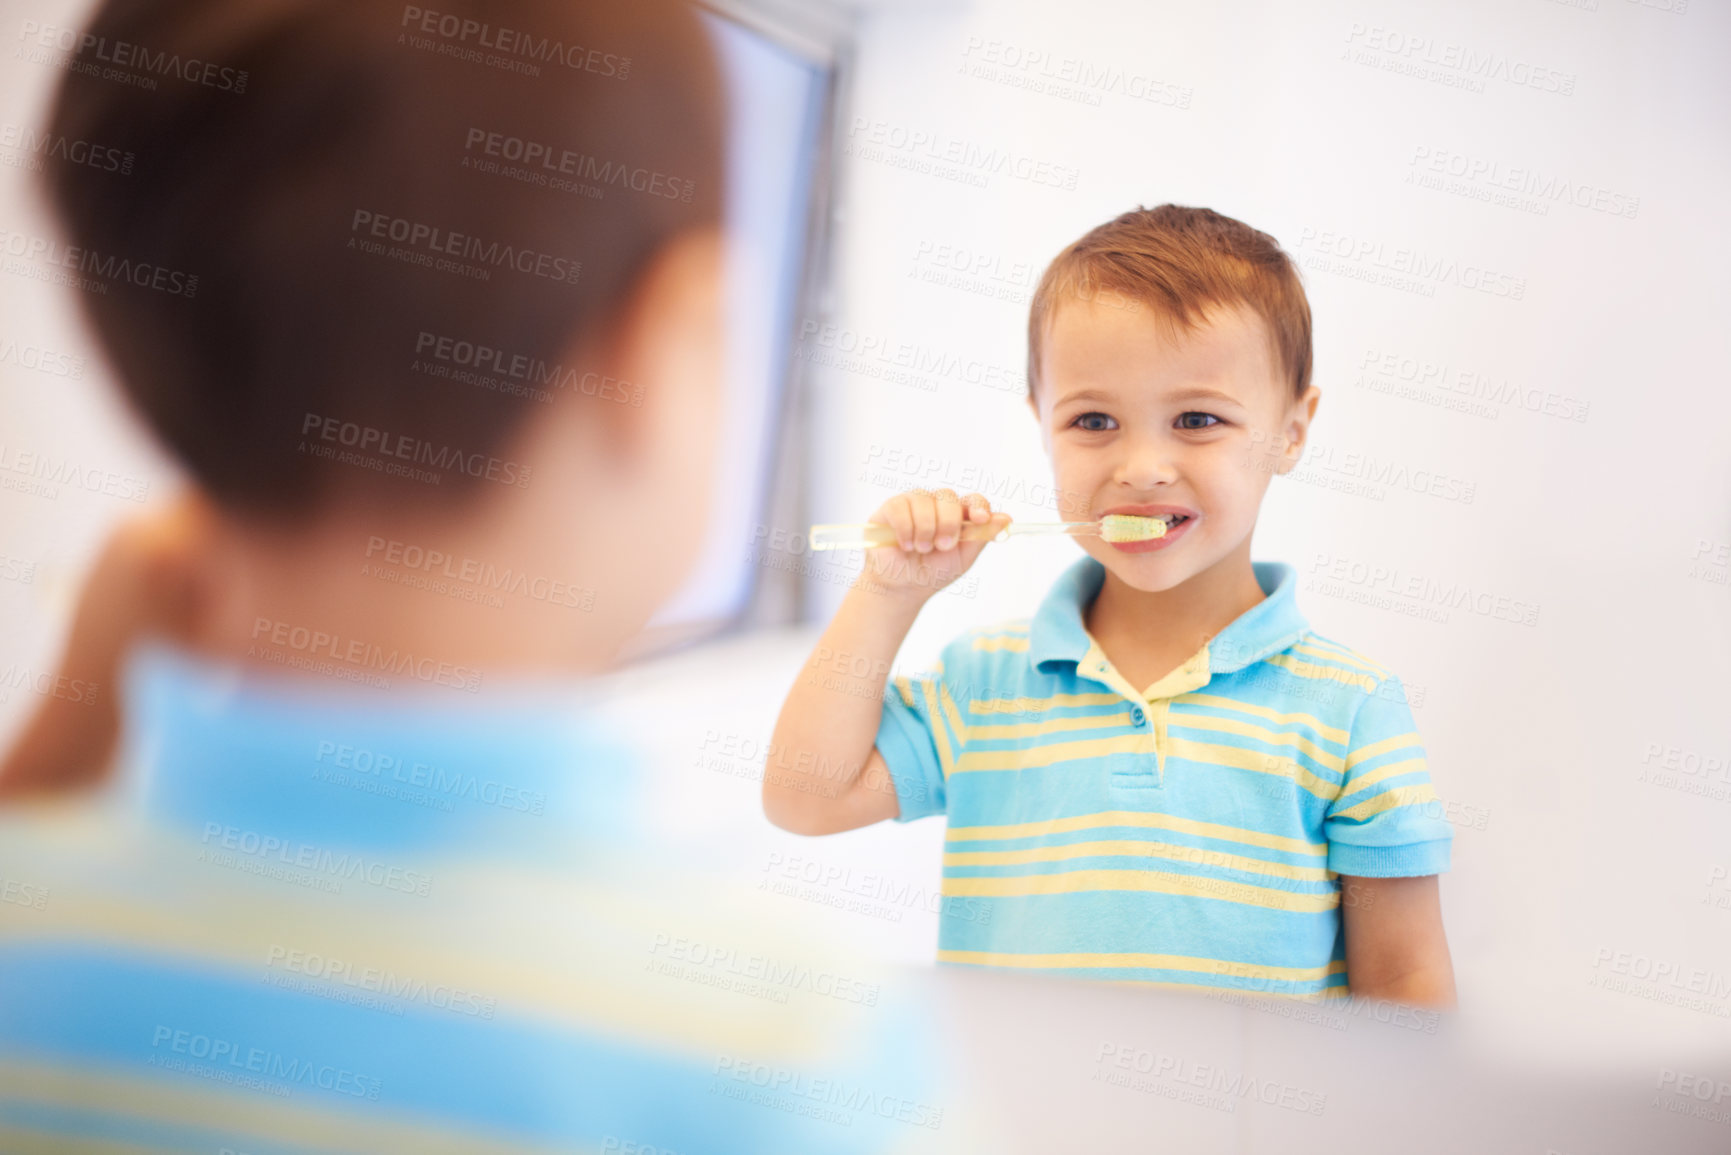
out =
[[(857, 1003), (734, 989), (734, 959), (838, 971), (632, 845), (630, 758), (582, 681), (679, 589), (706, 518), (725, 88), (699, 12), (107, 0), (42, 35), (71, 45), (50, 139), (137, 158), (47, 170), (55, 263), (199, 277), (81, 294), (196, 499), (116, 544), (74, 642), (100, 668), (154, 639), (114, 715), (135, 793), (0, 814), (0, 1150), (935, 1136), (907, 1056), (850, 1048), (921, 1039), (867, 968), (838, 968)], [(694, 194), (575, 197), (478, 163), (495, 133)], [(642, 405), (429, 372), (443, 343), (497, 352), (495, 386), (564, 367)], [(36, 784), (106, 750), (68, 722), (26, 743)], [(760, 1105), (788, 1070), (907, 1110)]]

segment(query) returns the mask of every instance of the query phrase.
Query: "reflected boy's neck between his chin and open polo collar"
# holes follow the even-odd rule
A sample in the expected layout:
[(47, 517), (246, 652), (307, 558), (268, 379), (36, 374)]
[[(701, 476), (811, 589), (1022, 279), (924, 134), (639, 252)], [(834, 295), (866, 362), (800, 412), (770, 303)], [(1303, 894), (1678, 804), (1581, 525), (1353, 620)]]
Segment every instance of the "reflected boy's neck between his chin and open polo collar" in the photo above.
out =
[[(1141, 590), (1108, 568), (1099, 594), (1084, 611), (1084, 623), (1113, 665), (1163, 665), (1146, 677), (1151, 682), (1264, 597), (1267, 594), (1250, 565), (1250, 539), (1245, 539), (1236, 551), (1172, 589)], [(1129, 670), (1125, 677), (1136, 681)]]

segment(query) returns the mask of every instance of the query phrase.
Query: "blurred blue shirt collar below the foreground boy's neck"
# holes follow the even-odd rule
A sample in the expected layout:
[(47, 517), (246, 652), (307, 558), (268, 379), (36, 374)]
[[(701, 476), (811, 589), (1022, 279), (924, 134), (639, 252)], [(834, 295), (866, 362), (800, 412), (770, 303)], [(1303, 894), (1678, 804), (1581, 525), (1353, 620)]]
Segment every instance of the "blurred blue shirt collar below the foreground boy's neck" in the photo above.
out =
[(125, 689), (140, 816), (218, 847), (516, 859), (628, 828), (635, 758), (580, 682), (377, 698), (147, 642)]

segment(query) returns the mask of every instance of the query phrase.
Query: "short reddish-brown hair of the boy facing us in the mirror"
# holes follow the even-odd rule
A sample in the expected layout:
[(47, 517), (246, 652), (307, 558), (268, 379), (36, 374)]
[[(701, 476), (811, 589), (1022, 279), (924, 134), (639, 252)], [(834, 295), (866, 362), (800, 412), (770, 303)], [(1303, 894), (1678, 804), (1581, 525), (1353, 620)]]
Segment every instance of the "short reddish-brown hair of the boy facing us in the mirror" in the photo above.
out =
[(1028, 306), (1028, 395), (1058, 306), (1113, 298), (1146, 305), (1168, 332), (1200, 324), (1210, 306), (1262, 319), (1274, 369), (1293, 400), (1310, 384), (1310, 303), (1298, 268), (1265, 232), (1208, 208), (1137, 208), (1065, 248)]

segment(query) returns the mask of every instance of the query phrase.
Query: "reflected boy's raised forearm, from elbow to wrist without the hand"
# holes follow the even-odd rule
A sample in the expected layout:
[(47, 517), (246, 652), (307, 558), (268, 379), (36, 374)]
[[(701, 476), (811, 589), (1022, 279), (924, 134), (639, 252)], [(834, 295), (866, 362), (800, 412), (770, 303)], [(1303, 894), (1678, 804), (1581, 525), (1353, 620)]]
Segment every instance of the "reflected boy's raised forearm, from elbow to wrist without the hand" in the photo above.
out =
[[(829, 826), (878, 739), (883, 693), (924, 597), (883, 592), (862, 575), (782, 703), (763, 764), (763, 812), (784, 829)], [(881, 783), (891, 790), (890, 783)]]

